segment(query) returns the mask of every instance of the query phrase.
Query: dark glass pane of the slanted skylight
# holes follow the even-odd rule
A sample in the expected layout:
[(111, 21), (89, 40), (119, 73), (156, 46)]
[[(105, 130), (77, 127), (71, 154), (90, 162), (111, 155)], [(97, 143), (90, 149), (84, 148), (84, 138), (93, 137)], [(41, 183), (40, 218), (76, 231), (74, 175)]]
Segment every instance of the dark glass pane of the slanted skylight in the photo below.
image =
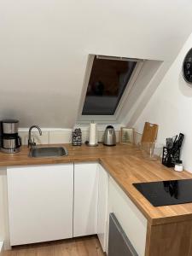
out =
[(136, 67), (137, 60), (95, 56), (82, 115), (114, 115)]

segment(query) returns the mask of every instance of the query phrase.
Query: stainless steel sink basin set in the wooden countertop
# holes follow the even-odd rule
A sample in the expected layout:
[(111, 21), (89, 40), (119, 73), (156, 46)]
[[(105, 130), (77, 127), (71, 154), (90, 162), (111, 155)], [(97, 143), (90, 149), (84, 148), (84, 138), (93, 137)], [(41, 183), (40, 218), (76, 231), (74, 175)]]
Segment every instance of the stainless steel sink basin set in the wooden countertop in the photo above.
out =
[(63, 147), (35, 147), (29, 151), (30, 157), (59, 157), (67, 154), (67, 148)]

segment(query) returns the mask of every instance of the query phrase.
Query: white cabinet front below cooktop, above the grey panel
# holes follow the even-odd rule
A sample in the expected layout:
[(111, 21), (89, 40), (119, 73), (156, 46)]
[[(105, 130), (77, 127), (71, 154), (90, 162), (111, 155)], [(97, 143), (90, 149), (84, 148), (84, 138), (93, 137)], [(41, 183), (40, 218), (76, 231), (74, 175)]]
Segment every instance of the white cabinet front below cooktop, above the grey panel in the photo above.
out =
[(109, 177), (109, 213), (113, 212), (139, 256), (145, 254), (147, 219)]

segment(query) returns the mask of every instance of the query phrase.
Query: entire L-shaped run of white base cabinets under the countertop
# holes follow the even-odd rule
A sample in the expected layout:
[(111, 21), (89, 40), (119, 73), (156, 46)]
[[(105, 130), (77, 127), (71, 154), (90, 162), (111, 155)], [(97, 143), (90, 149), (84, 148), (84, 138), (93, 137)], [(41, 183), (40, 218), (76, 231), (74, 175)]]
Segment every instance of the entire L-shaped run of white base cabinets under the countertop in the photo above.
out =
[(97, 234), (108, 253), (113, 212), (139, 256), (147, 219), (98, 163), (7, 168), (10, 245)]

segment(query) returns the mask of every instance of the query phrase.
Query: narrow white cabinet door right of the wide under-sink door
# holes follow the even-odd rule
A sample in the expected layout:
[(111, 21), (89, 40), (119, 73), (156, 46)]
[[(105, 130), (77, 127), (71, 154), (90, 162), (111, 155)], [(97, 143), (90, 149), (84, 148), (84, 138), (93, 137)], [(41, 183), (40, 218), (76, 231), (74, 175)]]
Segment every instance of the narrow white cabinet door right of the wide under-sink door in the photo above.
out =
[(74, 165), (74, 237), (97, 233), (97, 165), (97, 163)]

